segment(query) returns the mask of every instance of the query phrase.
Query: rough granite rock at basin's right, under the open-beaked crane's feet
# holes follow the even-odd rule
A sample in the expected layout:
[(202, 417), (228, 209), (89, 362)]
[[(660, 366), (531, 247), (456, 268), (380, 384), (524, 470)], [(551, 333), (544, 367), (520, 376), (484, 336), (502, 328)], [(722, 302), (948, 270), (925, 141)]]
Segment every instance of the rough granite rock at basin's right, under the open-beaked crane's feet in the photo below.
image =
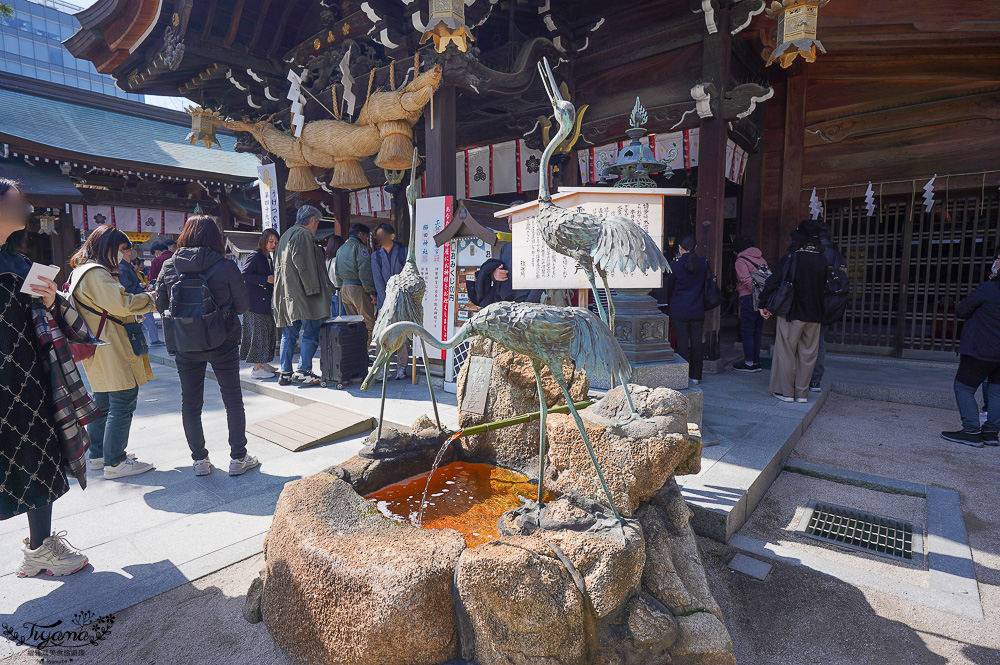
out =
[[(631, 387), (641, 420), (626, 422), (629, 410), (621, 386), (580, 412), (623, 517), (631, 517), (639, 504), (652, 499), (678, 470), (696, 472), (701, 460), (701, 445), (687, 435), (687, 401), (683, 396), (668, 388)], [(546, 432), (546, 489), (577, 492), (607, 503), (573, 418), (550, 415)]]

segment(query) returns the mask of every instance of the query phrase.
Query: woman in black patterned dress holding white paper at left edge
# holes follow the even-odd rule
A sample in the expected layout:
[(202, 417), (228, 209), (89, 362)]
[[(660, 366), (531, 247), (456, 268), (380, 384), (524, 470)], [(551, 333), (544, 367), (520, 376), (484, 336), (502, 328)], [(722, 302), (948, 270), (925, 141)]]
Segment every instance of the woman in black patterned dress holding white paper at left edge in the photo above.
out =
[[(32, 323), (32, 297), (21, 287), (31, 261), (20, 253), (31, 207), (17, 185), (0, 178), (0, 520), (27, 514), (29, 538), (18, 577), (48, 571), (69, 575), (87, 557), (52, 533), (52, 503), (69, 490), (63, 449), (53, 413), (47, 355)], [(39, 278), (31, 290), (46, 309), (55, 309), (56, 285)]]

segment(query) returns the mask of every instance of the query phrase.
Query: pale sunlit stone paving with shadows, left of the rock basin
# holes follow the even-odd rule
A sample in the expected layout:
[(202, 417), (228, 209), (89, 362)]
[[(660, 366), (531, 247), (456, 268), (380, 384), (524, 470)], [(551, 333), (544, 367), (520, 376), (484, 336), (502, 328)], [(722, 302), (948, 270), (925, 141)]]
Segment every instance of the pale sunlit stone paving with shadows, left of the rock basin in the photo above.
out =
[[(292, 453), (250, 436), (248, 449), (261, 466), (230, 477), (225, 410), (218, 384), (207, 381), (203, 422), (211, 458), (222, 469), (195, 477), (181, 428), (177, 374), (160, 365), (154, 373), (157, 379), (139, 391), (128, 451), (156, 469), (121, 480), (91, 473), (86, 490), (72, 481), (54, 504), (53, 529), (65, 529), (90, 565), (68, 577), (18, 579), (13, 571), (27, 522), (0, 522), (0, 622), (17, 626), (68, 620), (79, 610), (118, 612), (252, 556), (261, 551), (285, 483), (336, 464), (362, 445), (359, 436)], [(245, 393), (244, 400), (250, 423), (296, 408), (255, 393)], [(10, 650), (0, 640), (0, 656)]]

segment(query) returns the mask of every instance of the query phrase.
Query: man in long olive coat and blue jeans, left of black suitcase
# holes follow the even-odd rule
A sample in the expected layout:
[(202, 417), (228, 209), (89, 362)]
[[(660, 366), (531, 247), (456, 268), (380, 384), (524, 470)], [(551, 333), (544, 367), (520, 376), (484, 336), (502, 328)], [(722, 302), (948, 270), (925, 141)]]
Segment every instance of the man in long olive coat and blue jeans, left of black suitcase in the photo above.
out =
[[(330, 318), (333, 285), (326, 272), (323, 252), (313, 241), (322, 214), (304, 205), (295, 226), (285, 231), (274, 255), (274, 322), (281, 328), (281, 377), (279, 385), (315, 386), (312, 359), (319, 347), (319, 329)], [(302, 335), (299, 366), (292, 373), (295, 343)]]

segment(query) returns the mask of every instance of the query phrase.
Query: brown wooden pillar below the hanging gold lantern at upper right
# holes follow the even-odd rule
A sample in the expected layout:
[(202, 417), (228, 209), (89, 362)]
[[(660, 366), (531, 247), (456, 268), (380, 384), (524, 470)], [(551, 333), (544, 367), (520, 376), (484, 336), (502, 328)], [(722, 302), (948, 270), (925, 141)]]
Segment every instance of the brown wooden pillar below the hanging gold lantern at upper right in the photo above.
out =
[(785, 95), (785, 145), (781, 159), (781, 229), (785, 234), (802, 221), (802, 160), (806, 135), (806, 74), (801, 61), (789, 71)]

